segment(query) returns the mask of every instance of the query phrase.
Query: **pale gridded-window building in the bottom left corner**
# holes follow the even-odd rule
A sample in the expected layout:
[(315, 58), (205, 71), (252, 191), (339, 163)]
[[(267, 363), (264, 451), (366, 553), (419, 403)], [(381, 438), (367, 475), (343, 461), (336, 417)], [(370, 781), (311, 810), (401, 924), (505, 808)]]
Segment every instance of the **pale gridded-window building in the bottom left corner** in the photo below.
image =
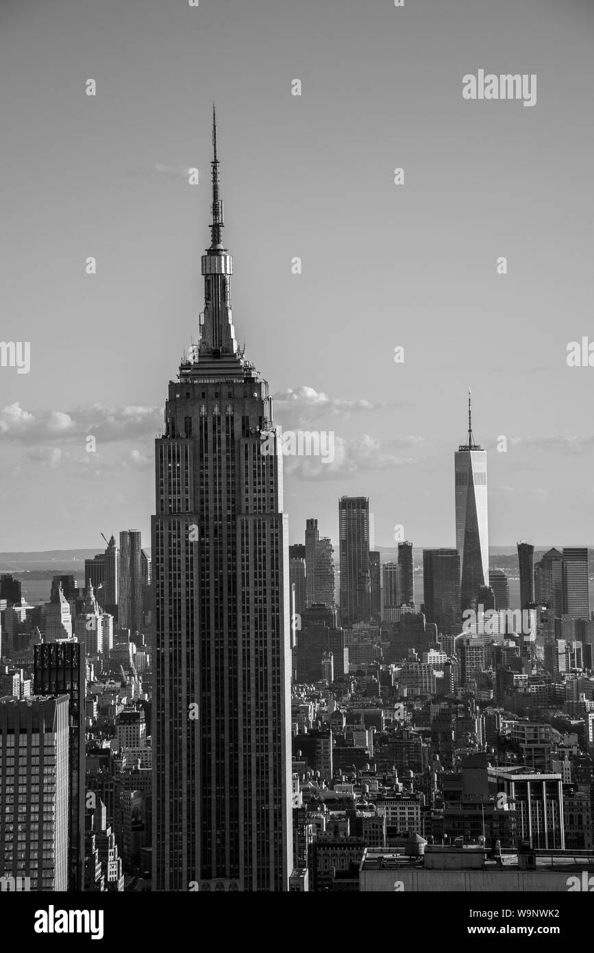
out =
[(0, 870), (69, 888), (69, 699), (0, 699)]

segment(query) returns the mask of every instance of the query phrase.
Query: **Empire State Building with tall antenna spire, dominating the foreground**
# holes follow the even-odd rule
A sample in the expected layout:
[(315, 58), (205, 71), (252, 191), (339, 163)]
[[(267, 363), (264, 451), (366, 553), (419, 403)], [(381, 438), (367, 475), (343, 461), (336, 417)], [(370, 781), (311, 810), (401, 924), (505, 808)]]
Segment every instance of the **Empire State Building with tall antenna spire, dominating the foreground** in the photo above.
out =
[(235, 340), (214, 112), (212, 137), (200, 342), (169, 381), (155, 441), (152, 888), (281, 891), (292, 866), (282, 451), (267, 381)]

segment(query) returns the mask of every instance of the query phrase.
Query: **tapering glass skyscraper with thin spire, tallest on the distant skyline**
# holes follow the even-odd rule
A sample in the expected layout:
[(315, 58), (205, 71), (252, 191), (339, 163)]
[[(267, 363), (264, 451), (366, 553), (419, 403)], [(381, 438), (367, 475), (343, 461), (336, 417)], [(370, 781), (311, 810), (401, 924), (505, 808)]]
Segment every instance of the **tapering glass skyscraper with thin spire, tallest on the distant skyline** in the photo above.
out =
[(468, 436), (454, 455), (456, 477), (456, 549), (460, 555), (462, 609), (476, 603), (488, 585), (486, 453), (474, 442), (468, 391)]

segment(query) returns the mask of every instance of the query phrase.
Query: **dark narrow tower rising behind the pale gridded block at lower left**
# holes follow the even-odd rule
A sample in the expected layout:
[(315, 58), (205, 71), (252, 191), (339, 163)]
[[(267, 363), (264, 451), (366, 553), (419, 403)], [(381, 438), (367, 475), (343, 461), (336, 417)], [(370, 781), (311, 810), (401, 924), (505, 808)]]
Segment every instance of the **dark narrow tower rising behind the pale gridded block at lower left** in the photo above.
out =
[(79, 642), (33, 646), (33, 692), (68, 695), (69, 890), (85, 880), (85, 650)]

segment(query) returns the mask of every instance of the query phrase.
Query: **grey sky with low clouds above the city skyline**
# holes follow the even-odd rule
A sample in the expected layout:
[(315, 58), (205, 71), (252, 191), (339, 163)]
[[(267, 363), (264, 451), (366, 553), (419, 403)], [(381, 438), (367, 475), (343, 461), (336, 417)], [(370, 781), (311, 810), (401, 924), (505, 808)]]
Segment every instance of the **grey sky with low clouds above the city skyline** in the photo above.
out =
[[(0, 0), (0, 335), (30, 344), (0, 367), (0, 550), (149, 545), (213, 100), (237, 337), (275, 420), (335, 440), (285, 459), (290, 541), (365, 495), (376, 544), (453, 546), (470, 387), (489, 542), (594, 544), (594, 368), (567, 366), (594, 342), (593, 26), (584, 0)], [(536, 74), (536, 104), (465, 99), (479, 70)]]

